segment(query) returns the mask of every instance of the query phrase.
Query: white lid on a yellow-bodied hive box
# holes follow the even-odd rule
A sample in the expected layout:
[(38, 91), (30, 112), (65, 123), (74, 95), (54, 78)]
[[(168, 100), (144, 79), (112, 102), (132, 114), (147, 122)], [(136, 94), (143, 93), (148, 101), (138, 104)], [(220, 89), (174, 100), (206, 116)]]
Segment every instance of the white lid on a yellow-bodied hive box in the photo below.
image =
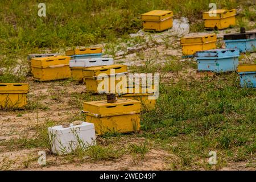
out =
[(94, 57), (90, 59), (73, 59), (69, 61), (69, 67), (97, 67), (114, 64), (113, 58)]

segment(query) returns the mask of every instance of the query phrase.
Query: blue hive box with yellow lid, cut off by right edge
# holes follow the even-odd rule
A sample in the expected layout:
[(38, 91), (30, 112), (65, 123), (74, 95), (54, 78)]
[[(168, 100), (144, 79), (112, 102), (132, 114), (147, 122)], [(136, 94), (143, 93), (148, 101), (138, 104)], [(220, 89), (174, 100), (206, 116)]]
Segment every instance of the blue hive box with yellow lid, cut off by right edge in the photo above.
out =
[(239, 65), (237, 72), (242, 87), (256, 87), (256, 64)]

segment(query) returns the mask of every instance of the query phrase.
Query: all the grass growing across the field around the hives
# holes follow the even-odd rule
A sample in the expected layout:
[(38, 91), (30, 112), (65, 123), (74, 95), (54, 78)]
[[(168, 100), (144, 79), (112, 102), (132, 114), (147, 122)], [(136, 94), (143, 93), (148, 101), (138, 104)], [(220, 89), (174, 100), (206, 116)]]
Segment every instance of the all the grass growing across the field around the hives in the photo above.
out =
[[(16, 68), (16, 65), (18, 59), (22, 60), (22, 64), (28, 65), (28, 53), (63, 53), (63, 48), (66, 47), (107, 43), (106, 53), (114, 56), (118, 51), (127, 52), (119, 42), (126, 43), (128, 47), (138, 43), (147, 44), (143, 38), (129, 39), (128, 35), (142, 28), (140, 14), (153, 9), (173, 10), (175, 18), (187, 16), (191, 31), (202, 31), (201, 13), (208, 10), (209, 2), (212, 1), (45, 1), (47, 17), (39, 18), (37, 1), (1, 1), (0, 82), (27, 81), (26, 74), (21, 74), (26, 73), (26, 68)], [(217, 7), (223, 9), (233, 9), (238, 5), (243, 7), (243, 11), (237, 16), (237, 27), (243, 26), (247, 30), (255, 27), (255, 24), (249, 24), (255, 20), (255, 11), (251, 9), (251, 5), (247, 6), (243, 2), (213, 2), (218, 2)], [(166, 48), (175, 46), (167, 42), (168, 40), (163, 43)], [(135, 53), (139, 59), (145, 60), (143, 50)], [(228, 163), (238, 162), (246, 162), (247, 166), (255, 167), (256, 90), (240, 88), (235, 73), (201, 80), (190, 77), (179, 77), (178, 80), (164, 78), (167, 73), (177, 77), (184, 69), (195, 69), (196, 64), (181, 62), (175, 56), (168, 56), (165, 63), (159, 64), (159, 57), (160, 52), (155, 51), (154, 56), (144, 61), (144, 65), (130, 67), (130, 73), (159, 72), (162, 84), (156, 109), (143, 111), (141, 114), (142, 132), (126, 136), (146, 138), (154, 144), (129, 142), (127, 145), (120, 145), (125, 135), (108, 133), (97, 139), (97, 146), (86, 150), (77, 148), (61, 159), (79, 163), (87, 160), (113, 161), (129, 154), (133, 163), (138, 165), (141, 160), (146, 160), (145, 155), (151, 148), (156, 147), (176, 156), (170, 162), (170, 169), (220, 169)], [(56, 89), (56, 86), (73, 86), (71, 82), (72, 80), (65, 80), (48, 83), (51, 87), (49, 95), (30, 95), (32, 99), (30, 98), (26, 110), (22, 113), (15, 110), (15, 116), (19, 119), (26, 111), (49, 110), (52, 103), (42, 104), (46, 98), (57, 106), (67, 102), (68, 106), (78, 111), (82, 109), (84, 101), (105, 99), (105, 96), (68, 93), (67, 90)], [(84, 116), (80, 114), (65, 118), (69, 122), (82, 119)], [(3, 147), (1, 151), (31, 148), (49, 151), (46, 129), (61, 122), (62, 119), (46, 119), (43, 123), (38, 121), (36, 125), (20, 132), (18, 138), (0, 141), (0, 146)], [(208, 164), (209, 151), (217, 152), (216, 166)], [(22, 163), (23, 167), (29, 168), (34, 160), (27, 158)], [(0, 161), (0, 169), (10, 169), (13, 163), (13, 160), (5, 156)]]

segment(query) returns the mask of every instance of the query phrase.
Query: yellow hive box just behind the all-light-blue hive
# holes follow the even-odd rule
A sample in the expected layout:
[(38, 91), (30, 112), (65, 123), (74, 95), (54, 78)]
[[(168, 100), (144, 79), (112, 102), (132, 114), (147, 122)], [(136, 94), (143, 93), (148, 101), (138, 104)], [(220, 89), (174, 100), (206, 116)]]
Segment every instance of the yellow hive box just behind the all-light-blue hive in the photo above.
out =
[(193, 55), (196, 51), (216, 49), (216, 34), (197, 35), (180, 39), (183, 55)]

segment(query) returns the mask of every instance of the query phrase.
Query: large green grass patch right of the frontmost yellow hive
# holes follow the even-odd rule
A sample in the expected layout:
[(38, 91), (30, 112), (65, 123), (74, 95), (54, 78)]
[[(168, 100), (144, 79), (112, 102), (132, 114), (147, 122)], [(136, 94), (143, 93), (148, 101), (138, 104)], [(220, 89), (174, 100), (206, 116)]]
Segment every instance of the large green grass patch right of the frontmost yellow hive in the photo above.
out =
[(158, 107), (142, 115), (142, 136), (179, 156), (183, 168), (193, 168), (212, 150), (222, 163), (253, 159), (256, 90), (239, 88), (236, 77), (160, 86)]

